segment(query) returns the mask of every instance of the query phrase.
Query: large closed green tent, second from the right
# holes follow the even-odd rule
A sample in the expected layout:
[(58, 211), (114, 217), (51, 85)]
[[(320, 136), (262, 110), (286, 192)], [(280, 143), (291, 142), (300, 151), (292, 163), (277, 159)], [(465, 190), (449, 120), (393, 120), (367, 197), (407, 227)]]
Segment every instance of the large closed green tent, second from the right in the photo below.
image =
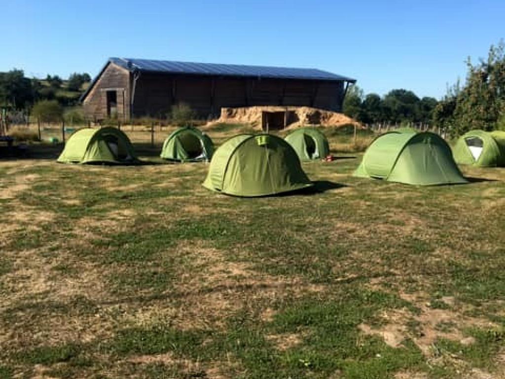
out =
[(390, 131), (377, 137), (354, 176), (414, 185), (467, 182), (440, 136), (415, 131)]

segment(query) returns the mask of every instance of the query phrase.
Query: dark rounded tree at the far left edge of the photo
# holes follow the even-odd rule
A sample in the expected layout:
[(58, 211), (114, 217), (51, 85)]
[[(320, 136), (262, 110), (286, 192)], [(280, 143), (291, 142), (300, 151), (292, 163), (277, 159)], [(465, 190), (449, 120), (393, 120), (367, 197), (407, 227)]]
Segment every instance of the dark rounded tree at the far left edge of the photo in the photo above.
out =
[(33, 102), (32, 82), (25, 78), (23, 70), (0, 72), (0, 104), (17, 109)]

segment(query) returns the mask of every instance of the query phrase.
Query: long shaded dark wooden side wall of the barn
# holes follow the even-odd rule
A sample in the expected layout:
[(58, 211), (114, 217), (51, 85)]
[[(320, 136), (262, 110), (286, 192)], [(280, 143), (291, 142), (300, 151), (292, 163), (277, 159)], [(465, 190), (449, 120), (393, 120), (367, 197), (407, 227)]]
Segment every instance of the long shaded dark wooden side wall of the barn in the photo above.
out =
[(240, 79), (142, 73), (133, 104), (135, 117), (165, 117), (185, 103), (199, 117), (218, 116), (222, 107), (312, 106), (340, 111), (343, 82)]

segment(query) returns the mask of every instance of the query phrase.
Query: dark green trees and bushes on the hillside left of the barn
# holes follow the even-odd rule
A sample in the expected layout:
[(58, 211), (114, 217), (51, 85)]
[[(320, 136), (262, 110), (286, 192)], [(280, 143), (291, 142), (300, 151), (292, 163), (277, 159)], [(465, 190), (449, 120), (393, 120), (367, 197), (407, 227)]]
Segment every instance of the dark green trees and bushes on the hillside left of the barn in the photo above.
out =
[[(41, 100), (56, 100), (63, 106), (72, 105), (80, 96), (82, 85), (91, 81), (89, 74), (73, 73), (64, 82), (58, 75), (47, 75), (45, 83), (27, 78), (23, 70), (0, 72), (0, 106), (26, 109)], [(69, 93), (62, 93), (66, 90)]]

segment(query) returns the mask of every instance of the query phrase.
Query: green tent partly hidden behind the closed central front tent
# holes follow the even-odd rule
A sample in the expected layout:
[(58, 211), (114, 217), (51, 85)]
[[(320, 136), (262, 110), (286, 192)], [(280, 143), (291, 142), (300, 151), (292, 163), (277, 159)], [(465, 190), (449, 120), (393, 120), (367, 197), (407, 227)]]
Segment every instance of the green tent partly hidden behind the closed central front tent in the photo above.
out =
[(292, 146), (300, 161), (322, 159), (330, 155), (326, 136), (318, 129), (299, 128), (284, 138)]

